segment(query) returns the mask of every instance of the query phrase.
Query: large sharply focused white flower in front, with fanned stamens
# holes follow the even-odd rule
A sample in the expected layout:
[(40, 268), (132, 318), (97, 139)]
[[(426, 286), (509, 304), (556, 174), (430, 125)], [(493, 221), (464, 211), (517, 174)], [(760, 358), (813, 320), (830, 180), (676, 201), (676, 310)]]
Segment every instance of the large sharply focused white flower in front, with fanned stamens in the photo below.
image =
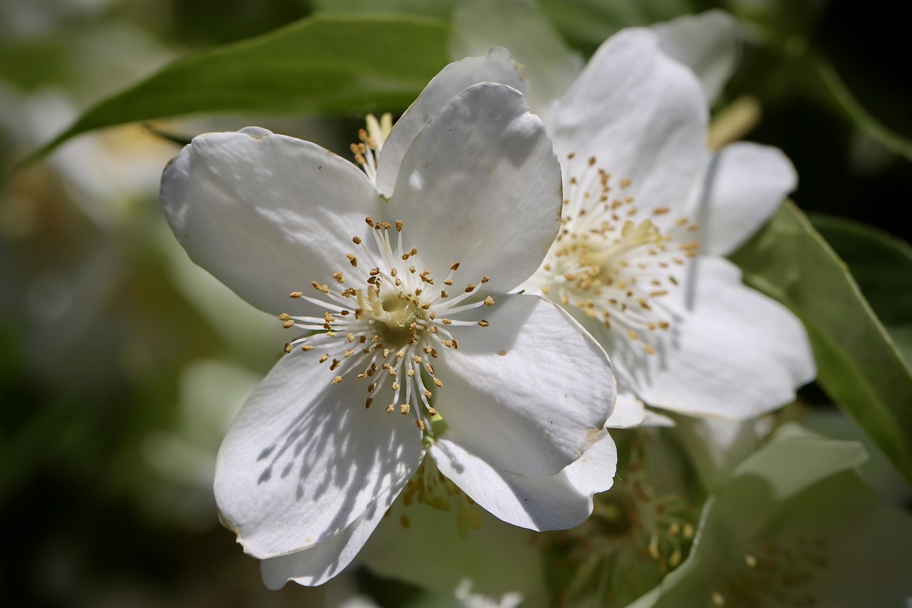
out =
[[(248, 128), (195, 138), (162, 177), (192, 259), (298, 332), (215, 476), (223, 522), (270, 586), (344, 568), (425, 455), (533, 529), (575, 525), (611, 485), (605, 352), (548, 300), (507, 295), (554, 239), (561, 178), (522, 94), (475, 84), (489, 68), (519, 78), (500, 52), (452, 64), (382, 153), (363, 134), (365, 172)], [(599, 438), (597, 475), (568, 472)], [(430, 495), (447, 489), (434, 473)]]

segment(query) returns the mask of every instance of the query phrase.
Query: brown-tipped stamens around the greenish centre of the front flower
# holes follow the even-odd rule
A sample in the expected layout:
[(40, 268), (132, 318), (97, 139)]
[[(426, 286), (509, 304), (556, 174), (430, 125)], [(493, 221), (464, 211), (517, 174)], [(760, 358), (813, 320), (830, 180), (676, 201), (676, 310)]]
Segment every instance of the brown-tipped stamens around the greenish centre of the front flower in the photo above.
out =
[(374, 222), (370, 217), (365, 221), (371, 228), (368, 238), (375, 246), (354, 236), (352, 243), (358, 249), (347, 254), (349, 268), (345, 272), (334, 273), (328, 283), (313, 281), (311, 287), (318, 295), (308, 296), (303, 291), (289, 294), (325, 309), (325, 313), (322, 317), (279, 315), (286, 329), (311, 332), (285, 344), (285, 352), (295, 348), (316, 351), (317, 361), (328, 362), (329, 369), (336, 372), (333, 384), (350, 376), (363, 381), (368, 393), (366, 407), (383, 395), (388, 413), (411, 412), (417, 416), (418, 427), (430, 433), (426, 420), (439, 415), (432, 397), (443, 386), (433, 361), (440, 354), (438, 349), (459, 348), (454, 328), (488, 326), (487, 320), (452, 316), (492, 306), (491, 296), (476, 297), (489, 279), (482, 277), (477, 284), (470, 283), (456, 293), (457, 261), (438, 285), (430, 269), (415, 266), (418, 249), (402, 245), (401, 221)]

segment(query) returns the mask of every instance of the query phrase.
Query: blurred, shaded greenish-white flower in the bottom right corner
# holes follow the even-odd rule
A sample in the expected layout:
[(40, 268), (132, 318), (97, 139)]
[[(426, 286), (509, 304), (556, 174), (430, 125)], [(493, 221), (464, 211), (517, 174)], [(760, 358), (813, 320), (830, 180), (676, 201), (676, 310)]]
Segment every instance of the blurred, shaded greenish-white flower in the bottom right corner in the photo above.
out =
[(912, 597), (912, 518), (877, 504), (856, 470), (865, 448), (796, 425), (777, 435), (710, 497), (688, 559), (630, 608), (886, 607)]

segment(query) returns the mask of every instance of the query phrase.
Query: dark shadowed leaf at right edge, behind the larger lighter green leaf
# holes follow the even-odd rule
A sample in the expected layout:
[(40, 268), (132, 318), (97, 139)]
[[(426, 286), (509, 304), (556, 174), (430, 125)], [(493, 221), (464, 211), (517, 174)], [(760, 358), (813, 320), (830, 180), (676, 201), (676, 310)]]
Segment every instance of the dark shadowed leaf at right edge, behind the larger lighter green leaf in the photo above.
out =
[(810, 215), (814, 228), (848, 264), (865, 299), (912, 366), (912, 246), (875, 227)]

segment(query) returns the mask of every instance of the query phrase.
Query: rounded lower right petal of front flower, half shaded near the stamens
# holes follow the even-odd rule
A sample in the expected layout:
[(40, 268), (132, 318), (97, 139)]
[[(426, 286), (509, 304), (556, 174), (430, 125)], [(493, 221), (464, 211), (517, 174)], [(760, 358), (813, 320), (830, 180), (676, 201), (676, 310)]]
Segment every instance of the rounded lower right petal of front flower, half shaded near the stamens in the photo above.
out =
[(595, 442), (611, 413), (605, 351), (536, 296), (502, 296), (487, 320), (487, 328), (459, 328), (459, 349), (434, 362), (443, 436), (498, 474), (550, 477)]

